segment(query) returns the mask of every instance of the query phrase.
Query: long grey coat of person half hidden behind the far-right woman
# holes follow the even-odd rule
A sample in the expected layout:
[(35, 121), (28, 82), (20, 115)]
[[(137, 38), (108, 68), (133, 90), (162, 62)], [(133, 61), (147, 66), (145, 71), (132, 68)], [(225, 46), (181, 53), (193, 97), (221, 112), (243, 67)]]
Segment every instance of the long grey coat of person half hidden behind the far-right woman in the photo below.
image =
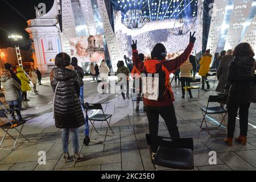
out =
[(224, 93), (228, 76), (229, 64), (234, 60), (232, 55), (223, 56), (217, 69), (218, 85), (216, 92)]

